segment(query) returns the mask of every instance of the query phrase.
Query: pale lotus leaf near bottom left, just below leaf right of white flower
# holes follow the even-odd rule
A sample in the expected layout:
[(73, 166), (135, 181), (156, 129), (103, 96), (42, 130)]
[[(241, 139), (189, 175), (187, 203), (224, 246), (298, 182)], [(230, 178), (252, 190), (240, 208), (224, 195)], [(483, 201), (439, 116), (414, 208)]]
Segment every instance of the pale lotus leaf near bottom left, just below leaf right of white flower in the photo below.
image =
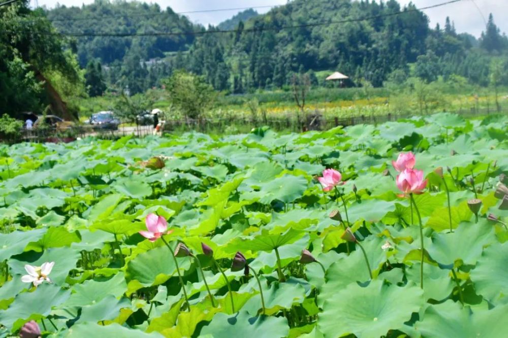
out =
[(82, 307), (76, 323), (113, 320), (118, 317), (120, 309), (130, 307), (131, 301), (129, 299), (123, 297), (118, 300), (113, 295), (106, 295), (96, 303)]

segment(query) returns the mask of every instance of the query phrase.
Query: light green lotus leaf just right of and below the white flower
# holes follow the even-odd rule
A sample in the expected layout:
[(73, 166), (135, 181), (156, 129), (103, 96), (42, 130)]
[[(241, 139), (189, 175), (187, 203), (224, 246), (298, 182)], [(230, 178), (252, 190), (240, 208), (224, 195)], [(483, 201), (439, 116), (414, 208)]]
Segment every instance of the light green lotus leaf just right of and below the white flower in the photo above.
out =
[(109, 279), (98, 278), (76, 284), (71, 289), (71, 297), (63, 304), (65, 307), (81, 307), (99, 302), (107, 295), (120, 297), (127, 291), (127, 283), (122, 272)]

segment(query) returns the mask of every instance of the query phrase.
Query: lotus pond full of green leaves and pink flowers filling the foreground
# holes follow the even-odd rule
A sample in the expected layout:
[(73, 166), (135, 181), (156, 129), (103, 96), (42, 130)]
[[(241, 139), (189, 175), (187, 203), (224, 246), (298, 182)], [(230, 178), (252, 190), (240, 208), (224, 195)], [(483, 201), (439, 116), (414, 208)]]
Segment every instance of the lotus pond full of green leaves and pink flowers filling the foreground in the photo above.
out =
[(2, 146), (0, 336), (505, 337), (507, 132)]

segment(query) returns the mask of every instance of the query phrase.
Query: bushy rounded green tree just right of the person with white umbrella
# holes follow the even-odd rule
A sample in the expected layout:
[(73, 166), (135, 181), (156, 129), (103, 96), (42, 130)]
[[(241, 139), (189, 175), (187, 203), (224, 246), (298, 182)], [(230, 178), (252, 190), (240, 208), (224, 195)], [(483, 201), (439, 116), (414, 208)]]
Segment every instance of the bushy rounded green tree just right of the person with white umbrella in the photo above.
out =
[(171, 103), (186, 119), (196, 119), (211, 107), (215, 99), (213, 87), (202, 76), (177, 71), (164, 80)]

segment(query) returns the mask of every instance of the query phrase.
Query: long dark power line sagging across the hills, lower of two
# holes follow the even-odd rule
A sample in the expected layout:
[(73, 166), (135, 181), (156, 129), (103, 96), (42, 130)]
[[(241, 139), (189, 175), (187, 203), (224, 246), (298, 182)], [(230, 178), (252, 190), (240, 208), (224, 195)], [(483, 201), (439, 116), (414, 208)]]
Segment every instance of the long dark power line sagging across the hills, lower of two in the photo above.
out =
[(325, 26), (331, 24), (339, 24), (339, 23), (352, 23), (352, 22), (361, 22), (372, 19), (379, 19), (391, 16), (397, 16), (417, 11), (425, 11), (432, 8), (442, 7), (454, 3), (461, 2), (463, 0), (450, 0), (448, 2), (435, 4), (431, 6), (414, 8), (414, 9), (405, 9), (402, 12), (394, 12), (394, 13), (386, 13), (379, 15), (372, 15), (363, 18), (357, 19), (345, 19), (345, 20), (332, 20), (328, 22), (315, 22), (315, 23), (306, 23), (300, 25), (291, 25), (291, 26), (281, 26), (281, 27), (262, 27), (262, 28), (246, 28), (246, 29), (229, 29), (229, 30), (201, 30), (201, 31), (184, 31), (184, 32), (136, 32), (136, 33), (84, 33), (84, 32), (51, 32), (51, 31), (30, 31), (34, 35), (59, 35), (59, 36), (67, 36), (67, 37), (157, 37), (157, 36), (196, 36), (196, 35), (206, 35), (206, 34), (214, 34), (214, 33), (244, 33), (244, 32), (261, 32), (267, 30), (283, 30), (283, 29), (294, 29), (294, 28), (308, 28), (308, 27), (317, 27), (317, 26)]

